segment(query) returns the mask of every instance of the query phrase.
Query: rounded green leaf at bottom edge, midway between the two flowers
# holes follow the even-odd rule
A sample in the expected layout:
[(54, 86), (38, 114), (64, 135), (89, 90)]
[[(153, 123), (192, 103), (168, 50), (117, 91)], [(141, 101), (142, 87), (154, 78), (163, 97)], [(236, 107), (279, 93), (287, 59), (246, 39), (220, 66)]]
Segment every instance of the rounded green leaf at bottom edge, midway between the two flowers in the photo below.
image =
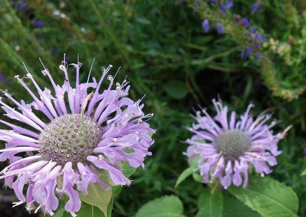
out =
[(149, 201), (137, 211), (135, 217), (184, 217), (183, 203), (171, 195)]

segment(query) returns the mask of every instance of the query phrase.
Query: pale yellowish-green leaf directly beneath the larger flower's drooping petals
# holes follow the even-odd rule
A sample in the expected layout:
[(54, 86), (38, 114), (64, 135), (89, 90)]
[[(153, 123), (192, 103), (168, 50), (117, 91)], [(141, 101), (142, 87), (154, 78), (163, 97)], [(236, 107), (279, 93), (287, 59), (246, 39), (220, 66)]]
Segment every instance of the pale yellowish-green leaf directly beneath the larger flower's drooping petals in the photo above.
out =
[(107, 215), (108, 205), (112, 199), (112, 190), (107, 190), (97, 182), (90, 183), (87, 188), (88, 194), (80, 192), (81, 201), (98, 207)]

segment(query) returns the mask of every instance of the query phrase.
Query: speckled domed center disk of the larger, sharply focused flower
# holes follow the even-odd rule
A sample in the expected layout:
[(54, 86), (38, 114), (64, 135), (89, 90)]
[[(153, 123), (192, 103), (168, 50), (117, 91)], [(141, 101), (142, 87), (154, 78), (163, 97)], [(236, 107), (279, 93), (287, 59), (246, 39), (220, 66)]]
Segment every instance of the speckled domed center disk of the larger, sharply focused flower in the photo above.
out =
[(102, 128), (83, 114), (65, 114), (50, 122), (39, 135), (39, 153), (43, 160), (58, 164), (85, 162), (93, 154), (102, 136)]

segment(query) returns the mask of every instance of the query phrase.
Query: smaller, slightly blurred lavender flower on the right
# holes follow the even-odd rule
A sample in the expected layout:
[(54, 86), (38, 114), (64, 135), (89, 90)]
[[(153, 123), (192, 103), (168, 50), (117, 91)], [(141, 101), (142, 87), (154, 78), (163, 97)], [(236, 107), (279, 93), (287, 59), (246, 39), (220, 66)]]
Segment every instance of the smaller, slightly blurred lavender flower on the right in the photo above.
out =
[[(276, 165), (275, 156), (281, 154), (277, 150), (277, 142), (282, 139), (283, 133), (273, 135), (271, 128), (277, 124), (273, 121), (270, 125), (266, 122), (271, 115), (261, 114), (255, 120), (249, 114), (253, 104), (247, 107), (246, 112), (236, 122), (236, 112), (232, 111), (230, 119), (227, 118), (227, 106), (213, 100), (217, 110), (215, 120), (202, 109), (204, 113), (196, 112), (198, 123), (188, 128), (193, 135), (186, 142), (190, 144), (187, 152), (189, 161), (196, 160), (197, 170), (203, 177), (203, 182), (212, 182), (215, 178), (226, 189), (232, 183), (243, 187), (248, 182), (249, 163), (253, 164), (255, 171), (261, 176), (272, 172), (269, 166)], [(242, 176), (241, 176), (242, 175)]]

